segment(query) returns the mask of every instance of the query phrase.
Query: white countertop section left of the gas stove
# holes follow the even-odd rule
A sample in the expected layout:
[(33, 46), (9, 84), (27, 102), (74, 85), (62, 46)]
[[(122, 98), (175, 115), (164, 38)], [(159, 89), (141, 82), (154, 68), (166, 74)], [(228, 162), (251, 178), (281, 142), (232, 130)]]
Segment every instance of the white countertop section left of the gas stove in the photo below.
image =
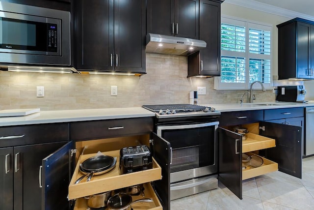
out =
[(0, 117), (0, 126), (153, 117), (142, 107), (40, 111), (23, 117)]

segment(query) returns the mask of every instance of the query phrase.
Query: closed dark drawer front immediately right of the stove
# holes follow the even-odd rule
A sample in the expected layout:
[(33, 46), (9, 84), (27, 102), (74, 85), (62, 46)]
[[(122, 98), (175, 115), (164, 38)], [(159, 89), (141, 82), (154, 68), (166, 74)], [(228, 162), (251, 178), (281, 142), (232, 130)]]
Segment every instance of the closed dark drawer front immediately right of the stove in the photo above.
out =
[(262, 121), (263, 110), (222, 112), (219, 117), (220, 125), (240, 125)]

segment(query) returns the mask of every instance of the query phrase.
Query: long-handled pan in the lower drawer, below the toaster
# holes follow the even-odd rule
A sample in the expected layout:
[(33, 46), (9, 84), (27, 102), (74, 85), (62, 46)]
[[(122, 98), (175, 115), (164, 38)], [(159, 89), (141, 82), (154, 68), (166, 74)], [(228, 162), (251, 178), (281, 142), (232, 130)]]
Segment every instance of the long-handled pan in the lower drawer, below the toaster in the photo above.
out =
[(117, 193), (109, 198), (108, 210), (131, 210), (131, 205), (137, 202), (153, 202), (150, 198), (138, 199), (132, 202), (132, 196), (127, 193)]

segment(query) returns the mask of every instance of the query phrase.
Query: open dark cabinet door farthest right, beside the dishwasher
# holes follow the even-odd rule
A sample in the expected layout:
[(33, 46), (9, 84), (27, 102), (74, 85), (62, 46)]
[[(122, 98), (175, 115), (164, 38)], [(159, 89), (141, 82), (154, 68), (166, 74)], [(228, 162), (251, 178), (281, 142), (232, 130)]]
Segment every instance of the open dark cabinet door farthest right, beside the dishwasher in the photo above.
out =
[(281, 172), (300, 178), (302, 176), (302, 127), (260, 122), (262, 136), (276, 140), (276, 147), (266, 149), (265, 157), (278, 163)]

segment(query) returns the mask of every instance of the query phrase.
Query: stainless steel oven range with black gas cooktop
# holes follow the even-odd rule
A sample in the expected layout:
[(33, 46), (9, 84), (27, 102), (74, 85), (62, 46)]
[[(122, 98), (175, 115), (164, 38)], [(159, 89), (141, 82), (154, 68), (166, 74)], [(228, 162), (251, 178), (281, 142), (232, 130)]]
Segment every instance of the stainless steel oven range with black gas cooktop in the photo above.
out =
[(202, 106), (186, 106), (191, 110), (156, 109), (157, 135), (171, 145), (170, 200), (218, 185), (216, 133), (220, 113)]

